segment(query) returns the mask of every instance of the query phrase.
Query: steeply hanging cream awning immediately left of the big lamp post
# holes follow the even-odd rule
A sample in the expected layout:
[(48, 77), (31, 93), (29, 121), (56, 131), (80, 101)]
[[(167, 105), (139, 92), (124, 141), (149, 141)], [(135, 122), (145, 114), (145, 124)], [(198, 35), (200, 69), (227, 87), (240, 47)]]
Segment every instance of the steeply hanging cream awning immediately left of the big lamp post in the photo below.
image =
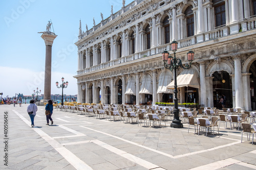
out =
[(157, 93), (173, 93), (173, 90), (166, 88), (166, 86), (170, 84), (171, 77), (171, 72), (169, 71), (163, 71), (160, 74)]

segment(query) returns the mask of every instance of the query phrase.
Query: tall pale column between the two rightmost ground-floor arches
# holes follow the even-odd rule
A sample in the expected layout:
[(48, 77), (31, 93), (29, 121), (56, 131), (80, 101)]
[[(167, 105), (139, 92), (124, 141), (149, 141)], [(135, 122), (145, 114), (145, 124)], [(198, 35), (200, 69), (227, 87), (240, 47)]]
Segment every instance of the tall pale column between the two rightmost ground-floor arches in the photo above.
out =
[(234, 57), (234, 88), (236, 91), (236, 109), (244, 108), (244, 95), (242, 80), (242, 66), (240, 56)]

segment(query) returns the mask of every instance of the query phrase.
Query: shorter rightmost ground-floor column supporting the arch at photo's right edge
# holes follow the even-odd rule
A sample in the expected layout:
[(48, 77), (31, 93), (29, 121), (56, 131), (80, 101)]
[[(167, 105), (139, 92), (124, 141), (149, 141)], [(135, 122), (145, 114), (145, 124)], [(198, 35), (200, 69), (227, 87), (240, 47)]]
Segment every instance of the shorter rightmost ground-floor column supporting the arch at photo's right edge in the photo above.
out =
[(249, 72), (245, 72), (242, 74), (244, 85), (244, 108), (246, 111), (251, 111), (250, 75), (251, 73)]

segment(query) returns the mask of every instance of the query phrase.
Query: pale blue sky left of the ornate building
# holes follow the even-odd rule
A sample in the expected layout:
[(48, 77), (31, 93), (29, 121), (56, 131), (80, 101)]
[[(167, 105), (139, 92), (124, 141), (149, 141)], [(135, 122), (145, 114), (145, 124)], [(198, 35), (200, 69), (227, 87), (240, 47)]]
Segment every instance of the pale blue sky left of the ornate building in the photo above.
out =
[[(125, 1), (125, 5), (133, 2)], [(69, 85), (63, 94), (77, 94), (77, 46), (79, 20), (82, 31), (108, 18), (122, 7), (122, 0), (1, 0), (0, 1), (0, 92), (3, 97), (15, 93), (31, 95), (38, 87), (44, 93), (45, 42), (38, 32), (46, 31), (49, 20), (51, 32), (57, 35), (52, 46), (51, 94), (61, 94), (55, 82), (65, 78)]]

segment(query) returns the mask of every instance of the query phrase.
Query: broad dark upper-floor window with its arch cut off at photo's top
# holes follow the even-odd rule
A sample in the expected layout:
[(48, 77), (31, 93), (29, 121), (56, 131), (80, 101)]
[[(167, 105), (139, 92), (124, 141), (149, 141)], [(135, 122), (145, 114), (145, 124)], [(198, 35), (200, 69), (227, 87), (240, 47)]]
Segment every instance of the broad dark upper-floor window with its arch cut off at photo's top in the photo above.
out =
[(215, 14), (215, 27), (220, 27), (226, 24), (226, 14), (225, 14), (225, 1), (223, 0), (213, 0), (212, 6), (214, 7)]

